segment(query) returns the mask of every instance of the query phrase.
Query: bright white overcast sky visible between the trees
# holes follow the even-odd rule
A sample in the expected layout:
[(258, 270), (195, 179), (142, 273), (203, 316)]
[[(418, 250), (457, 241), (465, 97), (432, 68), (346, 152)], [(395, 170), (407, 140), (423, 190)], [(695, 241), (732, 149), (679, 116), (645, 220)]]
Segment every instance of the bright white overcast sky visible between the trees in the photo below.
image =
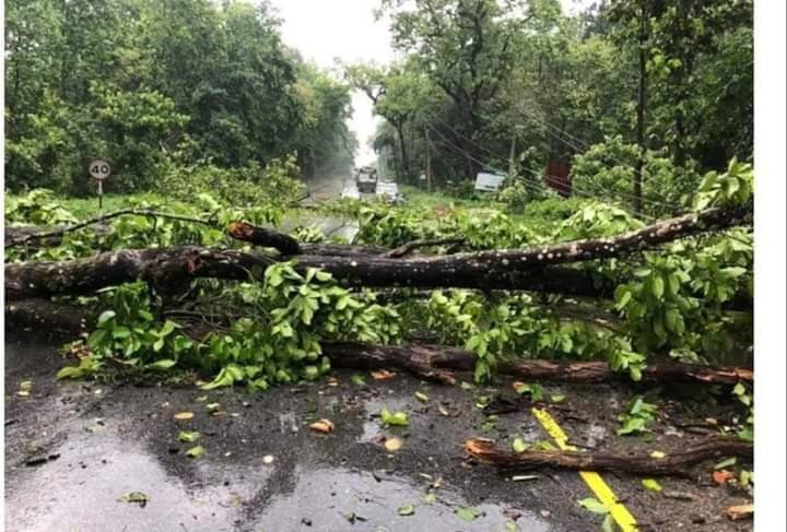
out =
[[(283, 19), (284, 43), (322, 68), (332, 68), (336, 59), (377, 63), (397, 59), (390, 47), (388, 21), (374, 20), (379, 0), (271, 0), (271, 3)], [(564, 10), (573, 12), (590, 0), (561, 0), (561, 3)], [(356, 164), (367, 164), (375, 159), (368, 144), (376, 119), (365, 95), (354, 93), (352, 105), (350, 129), (355, 131), (360, 143)]]

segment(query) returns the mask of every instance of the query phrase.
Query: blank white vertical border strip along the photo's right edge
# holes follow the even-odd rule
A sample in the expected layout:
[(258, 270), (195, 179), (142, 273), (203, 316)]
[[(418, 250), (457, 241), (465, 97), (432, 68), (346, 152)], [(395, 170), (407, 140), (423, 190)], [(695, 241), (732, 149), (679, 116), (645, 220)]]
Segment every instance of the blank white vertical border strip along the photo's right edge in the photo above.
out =
[(755, 530), (785, 524), (785, 2), (754, 5)]

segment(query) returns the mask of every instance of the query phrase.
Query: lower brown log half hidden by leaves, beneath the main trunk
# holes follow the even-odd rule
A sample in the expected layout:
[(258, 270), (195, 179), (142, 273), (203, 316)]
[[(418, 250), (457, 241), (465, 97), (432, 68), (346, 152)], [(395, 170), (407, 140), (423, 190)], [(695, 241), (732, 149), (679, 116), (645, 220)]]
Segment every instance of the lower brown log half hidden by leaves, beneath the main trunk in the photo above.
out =
[[(198, 339), (205, 332), (205, 320), (199, 320)], [(210, 320), (208, 320), (210, 321)], [(7, 302), (7, 330), (32, 328), (79, 335), (91, 327), (86, 309), (48, 299)], [(472, 371), (474, 353), (445, 345), (376, 345), (362, 342), (320, 342), (322, 354), (334, 367), (351, 369), (396, 369), (437, 382), (455, 381), (454, 371)], [(624, 374), (613, 371), (604, 362), (565, 363), (540, 359), (501, 362), (498, 371), (521, 380), (598, 383), (620, 380), (631, 382)], [(753, 385), (754, 373), (735, 367), (710, 367), (693, 364), (653, 364), (643, 370), (643, 381), (651, 383), (690, 382), (705, 385)]]

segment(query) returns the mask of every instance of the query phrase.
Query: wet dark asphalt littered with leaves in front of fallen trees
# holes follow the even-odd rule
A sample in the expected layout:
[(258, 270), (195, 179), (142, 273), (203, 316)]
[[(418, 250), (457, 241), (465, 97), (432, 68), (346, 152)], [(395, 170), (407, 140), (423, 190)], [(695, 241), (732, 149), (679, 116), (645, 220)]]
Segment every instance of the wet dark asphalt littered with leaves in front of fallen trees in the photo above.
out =
[[(461, 444), (473, 436), (506, 446), (517, 436), (549, 438), (529, 409), (496, 419), (483, 414), (479, 397), (512, 393), (506, 382), (480, 389), (365, 375), (361, 386), (351, 373), (337, 371), (334, 381), (248, 394), (57, 381), (62, 364), (54, 344), (39, 335), (7, 338), (8, 531), (600, 530), (601, 518), (577, 504), (591, 494), (576, 473), (535, 471), (536, 478), (514, 482), (462, 456)], [(20, 397), (14, 392), (25, 380), (33, 385)], [(680, 397), (662, 394), (660, 410), (670, 417), (646, 442), (614, 433), (618, 413), (634, 395), (631, 387), (544, 389), (547, 397), (566, 397), (560, 407), (547, 407), (572, 442), (589, 450), (668, 452), (702, 437), (672, 425), (696, 417)], [(420, 402), (415, 391), (428, 401)], [(384, 406), (408, 412), (410, 426), (381, 428)], [(702, 417), (735, 415), (730, 406), (715, 409)], [(175, 419), (186, 411), (193, 417)], [(318, 418), (330, 419), (333, 431), (310, 430)], [(184, 444), (180, 430), (202, 436)], [(403, 445), (390, 453), (383, 442), (392, 436)], [(188, 458), (196, 445), (204, 454)], [(751, 530), (751, 521), (724, 516), (725, 508), (750, 501), (749, 495), (715, 485), (712, 470), (704, 464), (692, 478), (660, 480), (665, 489), (692, 500), (663, 498), (637, 477), (603, 477), (641, 530)], [(145, 504), (122, 500), (134, 492), (145, 495)], [(407, 505), (413, 513), (399, 515)], [(468, 507), (478, 510), (470, 521), (461, 519), (460, 509)]]

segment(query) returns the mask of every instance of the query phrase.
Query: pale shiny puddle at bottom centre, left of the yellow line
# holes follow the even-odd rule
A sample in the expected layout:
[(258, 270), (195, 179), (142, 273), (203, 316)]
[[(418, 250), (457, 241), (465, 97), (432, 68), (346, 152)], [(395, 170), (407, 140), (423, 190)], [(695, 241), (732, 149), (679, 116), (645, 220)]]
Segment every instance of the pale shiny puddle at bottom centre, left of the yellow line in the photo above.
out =
[[(472, 522), (460, 520), (456, 508), (470, 506), (461, 496), (445, 488), (436, 492), (437, 501), (424, 503), (423, 487), (386, 476), (379, 481), (369, 472), (345, 469), (317, 469), (296, 472), (297, 484), (287, 495), (271, 499), (256, 519), (263, 530), (351, 530), (346, 516), (354, 513), (357, 530), (375, 531), (496, 531), (506, 530), (504, 508), (478, 505), (483, 515)], [(412, 516), (399, 516), (397, 509), (411, 504)], [(361, 519), (364, 519), (363, 521)], [(310, 523), (310, 527), (309, 527)], [(547, 522), (525, 513), (516, 521), (517, 530), (549, 531)]]

